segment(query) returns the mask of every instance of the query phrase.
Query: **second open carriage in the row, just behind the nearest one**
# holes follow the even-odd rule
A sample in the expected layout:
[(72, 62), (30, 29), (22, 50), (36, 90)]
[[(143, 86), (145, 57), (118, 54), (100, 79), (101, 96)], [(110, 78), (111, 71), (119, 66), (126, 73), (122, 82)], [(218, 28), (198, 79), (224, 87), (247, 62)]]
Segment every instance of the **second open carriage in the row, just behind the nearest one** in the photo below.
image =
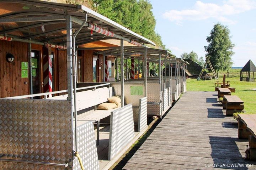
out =
[[(116, 58), (119, 57), (120, 49), (113, 48), (110, 50), (100, 51), (98, 54), (102, 54), (103, 56), (115, 56)], [(146, 56), (146, 57), (145, 57)], [(126, 81), (124, 82), (125, 86), (125, 93), (126, 100), (130, 102), (136, 102), (133, 98), (134, 96), (138, 94), (133, 94), (133, 91), (141, 91), (140, 95), (146, 93), (147, 96), (147, 114), (148, 116), (162, 116), (163, 113), (165, 113), (170, 107), (171, 107), (171, 85), (169, 84), (169, 79), (172, 79), (171, 76), (171, 70), (169, 77), (166, 77), (162, 72), (163, 66), (167, 66), (171, 64), (175, 60), (175, 56), (171, 54), (170, 52), (166, 50), (160, 50), (160, 49), (152, 49), (149, 47), (136, 47), (136, 46), (127, 46), (124, 47), (124, 57), (126, 58)], [(128, 76), (128, 62), (127, 60), (131, 61), (131, 70), (130, 70), (130, 76)], [(138, 74), (142, 72), (142, 76), (137, 76), (138, 78), (135, 79), (135, 64), (134, 61), (137, 61), (137, 72)], [(149, 70), (149, 63), (156, 63), (159, 64), (158, 69), (158, 77), (150, 77), (150, 70)], [(142, 71), (139, 70), (140, 64), (142, 64)], [(116, 64), (118, 66), (118, 64)], [(121, 65), (121, 68), (123, 66)], [(106, 67), (105, 67), (106, 69)], [(105, 70), (104, 69), (104, 70)], [(118, 67), (116, 67), (116, 72), (118, 72)], [(105, 74), (107, 75), (107, 74)], [(152, 75), (151, 75), (152, 76)], [(105, 78), (105, 80), (108, 80), (108, 78)], [(116, 76), (115, 81), (118, 80), (118, 76)], [(114, 85), (114, 83), (112, 83)], [(146, 89), (146, 90), (145, 90)], [(117, 91), (120, 91), (117, 89)], [(136, 113), (136, 104), (134, 103), (134, 117), (137, 117)]]

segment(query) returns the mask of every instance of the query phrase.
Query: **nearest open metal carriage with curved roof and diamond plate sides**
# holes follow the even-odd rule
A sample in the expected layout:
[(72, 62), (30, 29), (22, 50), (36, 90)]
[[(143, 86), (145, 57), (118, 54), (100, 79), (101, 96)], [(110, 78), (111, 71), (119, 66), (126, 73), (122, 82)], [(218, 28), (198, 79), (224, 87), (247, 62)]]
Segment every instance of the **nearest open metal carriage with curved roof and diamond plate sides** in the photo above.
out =
[[(125, 105), (123, 92), (120, 108), (94, 109), (115, 95), (113, 87), (76, 84), (86, 82), (85, 70), (80, 70), (84, 79), (79, 81), (76, 47), (111, 48), (118, 45), (104, 40), (117, 39), (120, 49), (125, 42), (154, 43), (82, 5), (0, 0), (0, 14), (0, 166), (80, 169), (80, 159), (85, 169), (108, 169), (145, 130), (146, 98), (139, 99), (137, 133), (132, 104)], [(93, 51), (82, 53), (94, 57)], [(5, 61), (7, 54), (14, 60)], [(123, 60), (122, 53), (120, 57)], [(87, 59), (84, 69), (91, 64)], [(123, 79), (120, 86), (124, 89)], [(110, 129), (108, 137), (101, 138), (99, 120), (105, 116), (110, 117)], [(93, 123), (97, 123), (97, 144), (108, 141), (101, 150), (104, 155), (97, 152), (100, 145), (97, 148)]]

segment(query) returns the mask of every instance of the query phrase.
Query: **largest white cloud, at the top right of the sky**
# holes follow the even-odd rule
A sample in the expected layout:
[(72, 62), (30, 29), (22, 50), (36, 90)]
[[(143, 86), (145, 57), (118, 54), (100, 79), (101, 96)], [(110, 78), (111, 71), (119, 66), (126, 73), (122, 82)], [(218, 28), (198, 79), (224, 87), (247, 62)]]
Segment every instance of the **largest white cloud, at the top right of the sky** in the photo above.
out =
[(204, 3), (197, 1), (191, 9), (170, 10), (163, 13), (163, 17), (181, 25), (182, 21), (197, 21), (208, 18), (215, 18), (218, 21), (234, 24), (236, 21), (228, 19), (228, 16), (239, 14), (256, 8), (255, 0), (227, 0), (223, 5)]

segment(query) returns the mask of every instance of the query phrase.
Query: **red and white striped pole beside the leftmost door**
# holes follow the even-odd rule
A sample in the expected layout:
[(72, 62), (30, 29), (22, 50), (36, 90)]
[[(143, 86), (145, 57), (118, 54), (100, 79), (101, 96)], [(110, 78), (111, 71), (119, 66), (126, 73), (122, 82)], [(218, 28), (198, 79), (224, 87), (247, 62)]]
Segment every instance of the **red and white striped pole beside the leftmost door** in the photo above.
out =
[[(43, 92), (52, 92), (52, 48), (43, 47)], [(49, 95), (50, 97), (51, 95)]]

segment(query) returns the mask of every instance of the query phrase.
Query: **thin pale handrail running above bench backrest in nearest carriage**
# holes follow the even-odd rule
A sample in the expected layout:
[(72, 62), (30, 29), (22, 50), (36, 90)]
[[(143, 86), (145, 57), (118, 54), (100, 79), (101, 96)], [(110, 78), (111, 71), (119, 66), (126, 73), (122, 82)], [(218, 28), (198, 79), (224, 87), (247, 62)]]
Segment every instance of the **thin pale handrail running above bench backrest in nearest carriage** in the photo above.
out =
[[(104, 83), (104, 84), (99, 84), (99, 85), (94, 85), (94, 86), (87, 86), (87, 87), (79, 87), (76, 88), (76, 90), (84, 90), (84, 89), (91, 89), (91, 88), (96, 88), (96, 87), (101, 87), (101, 86), (106, 86), (110, 85), (110, 83)], [(74, 89), (73, 89), (74, 91)], [(53, 95), (53, 94), (58, 94), (58, 93), (64, 93), (68, 92), (68, 90), (60, 90), (60, 91), (53, 91), (53, 92), (45, 92), (45, 93), (38, 93), (38, 94), (32, 94), (32, 95), (23, 95), (23, 96), (13, 96), (13, 97), (5, 97), (5, 98), (28, 98), (28, 97), (37, 97), (37, 96), (47, 96), (47, 95)]]

